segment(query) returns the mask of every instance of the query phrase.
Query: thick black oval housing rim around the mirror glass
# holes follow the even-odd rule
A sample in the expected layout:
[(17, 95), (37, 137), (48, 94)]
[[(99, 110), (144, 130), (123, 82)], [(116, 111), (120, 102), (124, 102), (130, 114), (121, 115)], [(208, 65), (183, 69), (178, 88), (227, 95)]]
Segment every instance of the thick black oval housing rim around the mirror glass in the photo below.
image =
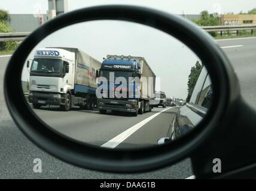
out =
[[(215, 104), (193, 132), (181, 140), (173, 141), (172, 144), (164, 144), (152, 149), (111, 150), (87, 146), (65, 138), (50, 130), (50, 127), (32, 115), (32, 110), (20, 91), (22, 88), (17, 76), (20, 76), (23, 65), (19, 66), (17, 62), (26, 63), (29, 51), (54, 31), (74, 23), (103, 19), (133, 21), (162, 30), (184, 42), (197, 53), (203, 63), (207, 63), (205, 66), (210, 75), (215, 76), (212, 79), (215, 90), (212, 101)], [(63, 70), (65, 69), (69, 72), (68, 63), (66, 66), (63, 65)], [(99, 76), (98, 71), (96, 76)], [(228, 58), (220, 47), (207, 33), (189, 21), (144, 7), (108, 5), (62, 14), (32, 32), (20, 44), (8, 63), (4, 79), (4, 94), (8, 109), (17, 126), (33, 143), (48, 153), (70, 164), (92, 170), (142, 172), (165, 167), (187, 158), (199, 146), (209, 141), (212, 135), (222, 132), (219, 124), (231, 116), (230, 110), (237, 108), (234, 105), (240, 96), (235, 77)], [(246, 125), (244, 128), (247, 128)]]

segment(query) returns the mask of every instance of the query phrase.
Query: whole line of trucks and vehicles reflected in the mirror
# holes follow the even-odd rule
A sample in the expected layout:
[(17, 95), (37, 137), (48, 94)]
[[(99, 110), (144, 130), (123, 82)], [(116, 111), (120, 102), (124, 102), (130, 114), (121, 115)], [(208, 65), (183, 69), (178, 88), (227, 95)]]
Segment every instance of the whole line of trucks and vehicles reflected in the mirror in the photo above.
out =
[(78, 48), (48, 47), (36, 50), (27, 67), (31, 68), (29, 103), (36, 109), (97, 106), (100, 113), (112, 110), (137, 116), (153, 107), (177, 105), (175, 98), (155, 91), (156, 75), (144, 57), (108, 55), (101, 63)]

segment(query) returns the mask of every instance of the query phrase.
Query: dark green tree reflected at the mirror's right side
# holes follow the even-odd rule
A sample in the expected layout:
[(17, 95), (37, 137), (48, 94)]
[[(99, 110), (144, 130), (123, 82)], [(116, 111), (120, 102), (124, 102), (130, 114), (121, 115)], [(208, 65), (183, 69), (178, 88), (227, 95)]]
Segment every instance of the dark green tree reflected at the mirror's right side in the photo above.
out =
[(196, 61), (195, 66), (191, 67), (190, 75), (188, 75), (188, 96), (187, 96), (187, 102), (190, 101), (190, 97), (193, 93), (194, 86), (196, 85), (197, 79), (200, 75), (200, 72), (202, 70), (203, 66), (200, 64), (199, 61)]

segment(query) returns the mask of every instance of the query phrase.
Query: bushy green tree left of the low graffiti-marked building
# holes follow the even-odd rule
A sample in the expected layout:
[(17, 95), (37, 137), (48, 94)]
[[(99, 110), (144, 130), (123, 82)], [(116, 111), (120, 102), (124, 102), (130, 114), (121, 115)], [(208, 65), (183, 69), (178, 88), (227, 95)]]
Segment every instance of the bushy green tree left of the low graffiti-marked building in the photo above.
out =
[[(220, 25), (220, 19), (214, 17), (213, 14), (209, 14), (208, 11), (202, 11), (200, 13), (200, 19), (194, 19), (194, 23), (199, 26), (217, 26)], [(212, 36), (217, 36), (217, 32), (210, 32)]]

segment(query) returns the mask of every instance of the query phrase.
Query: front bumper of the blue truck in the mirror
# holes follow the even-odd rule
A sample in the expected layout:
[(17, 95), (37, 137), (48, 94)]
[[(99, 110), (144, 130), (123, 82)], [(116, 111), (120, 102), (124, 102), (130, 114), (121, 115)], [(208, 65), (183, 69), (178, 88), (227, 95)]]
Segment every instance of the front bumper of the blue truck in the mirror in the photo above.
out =
[(110, 100), (97, 99), (97, 106), (103, 110), (115, 110), (120, 112), (135, 112), (137, 107), (136, 100)]

